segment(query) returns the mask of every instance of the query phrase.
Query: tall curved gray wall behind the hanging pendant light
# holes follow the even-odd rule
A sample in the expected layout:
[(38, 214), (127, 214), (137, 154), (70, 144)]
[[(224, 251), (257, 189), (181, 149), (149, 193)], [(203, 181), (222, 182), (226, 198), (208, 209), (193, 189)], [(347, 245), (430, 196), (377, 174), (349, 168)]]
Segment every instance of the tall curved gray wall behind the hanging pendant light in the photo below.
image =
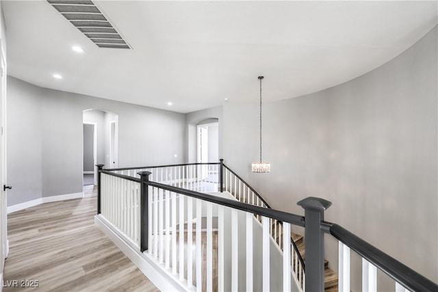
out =
[[(224, 105), (224, 162), (272, 207), (303, 214), (302, 198), (331, 200), (326, 220), (438, 281), (436, 27), (366, 75), (263, 104), (269, 174), (250, 172), (258, 124), (257, 103)], [(337, 269), (337, 245), (327, 250)]]

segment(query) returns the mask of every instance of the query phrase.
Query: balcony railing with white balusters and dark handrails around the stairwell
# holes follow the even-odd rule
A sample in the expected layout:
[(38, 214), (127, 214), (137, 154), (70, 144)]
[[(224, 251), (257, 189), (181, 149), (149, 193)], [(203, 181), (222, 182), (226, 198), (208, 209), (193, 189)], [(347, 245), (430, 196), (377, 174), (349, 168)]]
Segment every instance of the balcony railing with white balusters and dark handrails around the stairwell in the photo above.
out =
[[(438, 291), (436, 283), (325, 222), (331, 202), (298, 202), (304, 217), (270, 209), (222, 161), (102, 167), (98, 215), (188, 290), (324, 291), (326, 233), (339, 241), (339, 291), (350, 291), (350, 250), (363, 258), (363, 291), (378, 291), (378, 269), (394, 280), (394, 291)], [(272, 222), (279, 222), (281, 231)], [(275, 236), (289, 235), (292, 226), (305, 228), (306, 265), (290, 236)]]

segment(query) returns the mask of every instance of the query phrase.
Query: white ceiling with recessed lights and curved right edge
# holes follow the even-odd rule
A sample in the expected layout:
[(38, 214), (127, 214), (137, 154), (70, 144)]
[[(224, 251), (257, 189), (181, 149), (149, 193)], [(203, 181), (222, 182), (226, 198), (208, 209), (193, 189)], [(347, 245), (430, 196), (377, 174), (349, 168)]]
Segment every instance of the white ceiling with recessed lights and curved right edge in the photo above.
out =
[(224, 98), (257, 101), (259, 75), (263, 101), (330, 88), (381, 66), (437, 25), (437, 1), (94, 3), (133, 50), (99, 49), (47, 1), (1, 1), (8, 74), (186, 113)]

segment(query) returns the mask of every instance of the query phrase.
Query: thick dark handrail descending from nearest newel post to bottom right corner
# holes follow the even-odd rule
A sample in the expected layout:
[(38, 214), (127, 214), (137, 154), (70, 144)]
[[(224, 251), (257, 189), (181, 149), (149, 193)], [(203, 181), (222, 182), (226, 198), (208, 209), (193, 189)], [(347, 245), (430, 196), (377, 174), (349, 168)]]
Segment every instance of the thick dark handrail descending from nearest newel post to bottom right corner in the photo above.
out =
[(381, 269), (385, 274), (402, 284), (405, 288), (411, 291), (438, 291), (438, 284), (418, 274), (395, 258), (385, 254), (385, 252), (378, 250), (378, 248), (375, 248), (370, 243), (357, 237), (357, 235), (350, 233), (350, 231), (344, 227), (329, 222), (324, 222), (324, 225), (325, 224), (331, 225), (330, 234), (333, 235), (333, 237), (357, 252), (357, 254)]

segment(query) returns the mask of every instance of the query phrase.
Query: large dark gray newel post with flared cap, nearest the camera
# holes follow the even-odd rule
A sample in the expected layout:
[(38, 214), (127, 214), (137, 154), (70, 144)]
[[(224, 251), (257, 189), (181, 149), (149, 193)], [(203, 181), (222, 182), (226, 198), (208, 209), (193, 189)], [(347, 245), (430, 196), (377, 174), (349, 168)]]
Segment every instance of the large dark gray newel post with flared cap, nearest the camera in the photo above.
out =
[(306, 290), (324, 291), (324, 232), (321, 222), (331, 202), (309, 197), (297, 203), (305, 209)]

